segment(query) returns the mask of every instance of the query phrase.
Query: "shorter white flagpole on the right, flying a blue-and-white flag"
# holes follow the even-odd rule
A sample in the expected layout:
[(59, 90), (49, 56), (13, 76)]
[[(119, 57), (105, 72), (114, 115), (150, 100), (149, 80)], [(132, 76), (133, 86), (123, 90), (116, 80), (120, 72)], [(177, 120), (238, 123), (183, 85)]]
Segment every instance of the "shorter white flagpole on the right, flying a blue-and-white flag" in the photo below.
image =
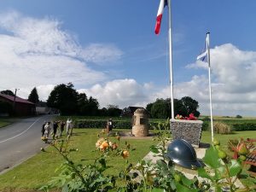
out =
[(209, 75), (209, 96), (210, 96), (211, 131), (212, 131), (212, 143), (213, 143), (212, 88), (211, 88), (211, 64), (210, 64), (210, 32), (207, 32), (207, 62), (208, 62), (208, 75)]

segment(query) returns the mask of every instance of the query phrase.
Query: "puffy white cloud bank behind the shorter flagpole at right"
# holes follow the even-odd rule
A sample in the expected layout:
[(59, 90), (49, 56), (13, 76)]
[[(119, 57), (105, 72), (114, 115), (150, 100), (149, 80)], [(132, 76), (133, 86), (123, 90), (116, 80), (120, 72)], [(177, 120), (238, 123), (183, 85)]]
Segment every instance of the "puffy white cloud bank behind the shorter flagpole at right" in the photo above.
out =
[[(189, 68), (206, 68), (207, 63), (196, 61)], [(238, 49), (233, 44), (223, 44), (211, 49), (212, 106), (220, 115), (255, 115), (256, 52)], [(207, 74), (207, 73), (206, 73)], [(203, 113), (209, 114), (208, 77), (194, 77), (178, 87), (179, 95), (195, 96)], [(194, 85), (191, 85), (194, 84)], [(198, 84), (198, 85), (195, 85)]]

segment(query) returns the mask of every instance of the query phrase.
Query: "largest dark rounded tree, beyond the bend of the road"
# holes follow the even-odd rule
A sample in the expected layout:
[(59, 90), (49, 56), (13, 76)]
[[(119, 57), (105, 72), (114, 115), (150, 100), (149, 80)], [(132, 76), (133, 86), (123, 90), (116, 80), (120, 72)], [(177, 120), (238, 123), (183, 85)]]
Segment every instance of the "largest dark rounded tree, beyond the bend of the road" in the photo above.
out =
[(61, 114), (75, 114), (78, 112), (78, 92), (73, 89), (73, 84), (58, 84), (49, 94), (47, 105), (57, 108)]

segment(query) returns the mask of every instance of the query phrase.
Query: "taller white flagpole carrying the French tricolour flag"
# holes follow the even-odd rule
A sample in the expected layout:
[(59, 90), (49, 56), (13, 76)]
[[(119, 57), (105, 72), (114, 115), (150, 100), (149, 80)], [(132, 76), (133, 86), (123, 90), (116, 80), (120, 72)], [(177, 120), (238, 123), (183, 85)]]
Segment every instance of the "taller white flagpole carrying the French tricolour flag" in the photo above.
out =
[(172, 79), (172, 14), (171, 14), (171, 0), (168, 0), (169, 12), (169, 65), (170, 65), (170, 85), (171, 85), (171, 105), (172, 105), (172, 119), (174, 119), (174, 104), (173, 104), (173, 79)]

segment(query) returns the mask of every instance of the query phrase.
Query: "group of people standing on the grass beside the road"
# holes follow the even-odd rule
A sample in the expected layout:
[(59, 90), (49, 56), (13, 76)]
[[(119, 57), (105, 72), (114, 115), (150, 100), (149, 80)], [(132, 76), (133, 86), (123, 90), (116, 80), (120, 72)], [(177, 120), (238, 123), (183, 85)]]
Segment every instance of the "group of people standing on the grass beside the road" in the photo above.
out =
[[(67, 119), (67, 122), (63, 121), (63, 120), (59, 120), (59, 121), (53, 121), (52, 123), (52, 137), (55, 138), (56, 136), (62, 136), (62, 132), (64, 131), (64, 127), (66, 125), (66, 131), (67, 131), (67, 135), (72, 135), (73, 133), (73, 123), (72, 123), (72, 119)], [(60, 128), (60, 129), (58, 129)], [(58, 131), (59, 130), (59, 131)], [(42, 137), (46, 137), (49, 138), (49, 133), (51, 131), (51, 122), (46, 122), (44, 121), (44, 124), (42, 125)], [(57, 132), (59, 134), (57, 134)]]

